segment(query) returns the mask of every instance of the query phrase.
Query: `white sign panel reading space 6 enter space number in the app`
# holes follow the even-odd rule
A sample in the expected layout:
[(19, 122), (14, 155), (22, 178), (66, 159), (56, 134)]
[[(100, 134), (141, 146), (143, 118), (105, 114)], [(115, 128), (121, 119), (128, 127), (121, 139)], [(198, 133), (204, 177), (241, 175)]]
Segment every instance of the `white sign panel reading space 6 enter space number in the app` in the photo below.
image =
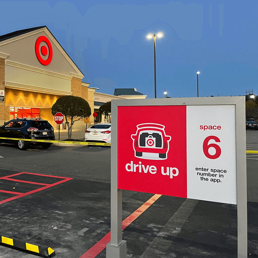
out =
[(187, 106), (187, 197), (236, 204), (235, 105)]

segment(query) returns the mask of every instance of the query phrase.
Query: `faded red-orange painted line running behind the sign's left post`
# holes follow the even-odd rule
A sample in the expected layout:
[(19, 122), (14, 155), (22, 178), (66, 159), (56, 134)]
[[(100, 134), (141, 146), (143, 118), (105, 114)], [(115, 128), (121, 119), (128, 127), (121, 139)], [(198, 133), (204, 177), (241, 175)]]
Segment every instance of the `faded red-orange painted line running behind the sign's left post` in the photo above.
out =
[[(142, 206), (140, 206), (136, 211), (134, 211), (131, 215), (129, 215), (122, 222), (122, 229), (125, 229), (129, 226), (135, 219), (137, 219), (144, 211), (149, 208), (158, 198), (162, 196), (161, 194), (153, 195), (147, 202), (145, 202)], [(91, 247), (86, 253), (84, 253), (80, 258), (94, 258), (96, 257), (102, 250), (105, 249), (106, 245), (110, 242), (111, 232), (109, 231), (106, 236), (104, 236), (100, 241), (98, 241), (93, 247)]]

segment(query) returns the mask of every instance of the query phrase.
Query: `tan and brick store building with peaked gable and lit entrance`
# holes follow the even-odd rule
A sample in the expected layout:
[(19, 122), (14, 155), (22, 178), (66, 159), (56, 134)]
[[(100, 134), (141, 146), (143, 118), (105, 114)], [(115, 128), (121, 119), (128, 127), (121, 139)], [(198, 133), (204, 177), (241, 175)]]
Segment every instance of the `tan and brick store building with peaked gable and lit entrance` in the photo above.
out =
[[(95, 89), (83, 77), (46, 26), (0, 36), (0, 124), (39, 116), (55, 126), (51, 107), (65, 95), (84, 98), (93, 112)], [(84, 121), (73, 126), (84, 127)]]

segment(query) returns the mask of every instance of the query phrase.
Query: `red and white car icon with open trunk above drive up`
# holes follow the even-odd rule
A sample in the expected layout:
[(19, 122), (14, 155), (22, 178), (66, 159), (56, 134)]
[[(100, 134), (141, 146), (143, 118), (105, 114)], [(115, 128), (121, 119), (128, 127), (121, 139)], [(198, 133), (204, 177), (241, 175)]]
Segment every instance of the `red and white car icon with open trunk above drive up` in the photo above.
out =
[(162, 124), (138, 124), (136, 134), (131, 135), (135, 157), (166, 159), (171, 136), (165, 135), (164, 128)]

